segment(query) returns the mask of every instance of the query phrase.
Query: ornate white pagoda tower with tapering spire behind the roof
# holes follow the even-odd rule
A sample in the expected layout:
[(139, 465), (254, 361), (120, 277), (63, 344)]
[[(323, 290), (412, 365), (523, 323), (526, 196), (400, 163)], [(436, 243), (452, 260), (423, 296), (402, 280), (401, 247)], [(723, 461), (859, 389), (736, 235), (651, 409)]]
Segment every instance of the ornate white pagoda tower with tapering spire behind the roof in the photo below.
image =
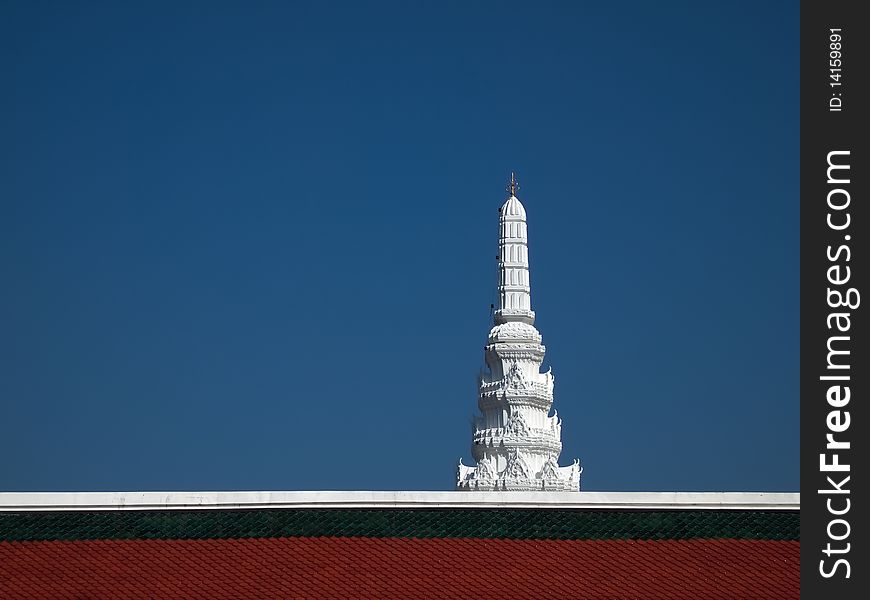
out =
[(580, 490), (580, 461), (559, 466), (562, 421), (554, 412), (552, 370), (541, 373), (545, 348), (534, 327), (529, 287), (526, 209), (510, 194), (499, 209), (498, 309), (479, 378), (471, 451), (477, 466), (459, 461), (460, 490)]

